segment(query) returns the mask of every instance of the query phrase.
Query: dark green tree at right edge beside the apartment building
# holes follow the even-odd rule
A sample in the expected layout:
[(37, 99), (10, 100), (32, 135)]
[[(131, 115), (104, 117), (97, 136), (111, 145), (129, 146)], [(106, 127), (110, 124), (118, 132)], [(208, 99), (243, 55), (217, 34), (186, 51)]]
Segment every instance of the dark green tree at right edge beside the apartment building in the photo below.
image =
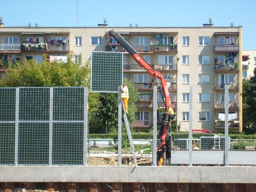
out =
[[(254, 68), (254, 74), (256, 68)], [(243, 80), (243, 130), (246, 134), (256, 132), (256, 77)]]

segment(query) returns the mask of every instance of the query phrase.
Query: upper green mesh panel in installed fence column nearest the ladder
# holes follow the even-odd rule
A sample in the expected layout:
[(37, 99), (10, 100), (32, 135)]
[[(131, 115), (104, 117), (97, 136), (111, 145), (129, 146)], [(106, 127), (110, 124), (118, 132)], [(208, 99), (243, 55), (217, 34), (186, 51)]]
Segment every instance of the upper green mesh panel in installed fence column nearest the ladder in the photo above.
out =
[(82, 121), (84, 119), (84, 88), (54, 88), (53, 120)]

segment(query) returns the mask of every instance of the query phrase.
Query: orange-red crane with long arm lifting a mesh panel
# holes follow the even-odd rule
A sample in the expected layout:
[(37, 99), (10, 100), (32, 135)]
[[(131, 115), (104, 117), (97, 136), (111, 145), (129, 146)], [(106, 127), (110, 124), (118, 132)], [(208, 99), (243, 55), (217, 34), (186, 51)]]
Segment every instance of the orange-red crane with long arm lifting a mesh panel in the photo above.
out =
[[(109, 34), (120, 44), (123, 46), (123, 48), (130, 53), (132, 58), (144, 69), (147, 70), (147, 72), (152, 76), (152, 78), (156, 79), (158, 82), (158, 88), (160, 90), (165, 109), (167, 109), (167, 106), (172, 107), (172, 101), (170, 98), (168, 86), (166, 79), (160, 72), (158, 72), (152, 65), (150, 65), (120, 34), (115, 32), (114, 30), (110, 30), (108, 34), (106, 35), (106, 39), (108, 41), (108, 36)], [(159, 81), (161, 81), (161, 86), (159, 84)], [(162, 114), (163, 115), (163, 114)], [(171, 117), (169, 119), (169, 123), (165, 124), (163, 121), (161, 121), (162, 125), (160, 128), (160, 144), (158, 146), (158, 154), (157, 154), (157, 159), (158, 159), (158, 165), (161, 166), (162, 162), (164, 161), (164, 158), (170, 158), (170, 149), (169, 149), (169, 140), (170, 136), (166, 136), (167, 131), (168, 131), (168, 126), (170, 126), (170, 121), (174, 119), (175, 116)], [(160, 118), (163, 119), (163, 118)]]

